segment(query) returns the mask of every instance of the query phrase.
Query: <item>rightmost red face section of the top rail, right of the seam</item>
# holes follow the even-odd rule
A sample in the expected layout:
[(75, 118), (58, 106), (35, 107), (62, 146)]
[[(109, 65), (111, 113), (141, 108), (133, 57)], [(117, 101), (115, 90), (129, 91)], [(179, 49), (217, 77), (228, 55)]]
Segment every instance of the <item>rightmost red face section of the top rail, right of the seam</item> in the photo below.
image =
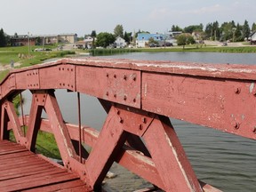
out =
[(253, 82), (153, 73), (142, 82), (144, 110), (256, 139)]

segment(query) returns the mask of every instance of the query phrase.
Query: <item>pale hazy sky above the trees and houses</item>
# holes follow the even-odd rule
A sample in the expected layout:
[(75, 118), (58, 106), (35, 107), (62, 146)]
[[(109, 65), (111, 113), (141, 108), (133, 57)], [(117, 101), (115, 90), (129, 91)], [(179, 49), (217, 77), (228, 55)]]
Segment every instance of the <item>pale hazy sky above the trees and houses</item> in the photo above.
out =
[[(234, 20), (256, 23), (255, 0), (2, 0), (0, 28), (10, 36), (58, 35), (84, 36), (113, 33), (116, 25), (124, 31), (164, 33), (178, 25), (219, 24)], [(254, 12), (254, 13), (253, 13)]]

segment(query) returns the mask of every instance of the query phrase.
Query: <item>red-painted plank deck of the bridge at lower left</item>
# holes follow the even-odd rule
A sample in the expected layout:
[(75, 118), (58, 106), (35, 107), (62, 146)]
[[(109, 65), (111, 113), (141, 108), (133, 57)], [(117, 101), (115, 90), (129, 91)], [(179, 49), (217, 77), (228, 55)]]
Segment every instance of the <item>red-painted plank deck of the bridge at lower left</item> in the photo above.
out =
[(0, 191), (86, 191), (82, 180), (27, 148), (0, 140)]

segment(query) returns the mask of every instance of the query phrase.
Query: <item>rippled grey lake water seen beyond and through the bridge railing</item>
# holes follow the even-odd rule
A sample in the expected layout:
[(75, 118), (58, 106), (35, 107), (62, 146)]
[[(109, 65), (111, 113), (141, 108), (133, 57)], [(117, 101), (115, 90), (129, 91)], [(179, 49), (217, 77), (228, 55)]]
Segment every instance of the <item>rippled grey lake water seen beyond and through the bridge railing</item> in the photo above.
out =
[[(256, 65), (255, 53), (134, 52), (104, 58)], [(56, 96), (64, 119), (77, 124), (76, 93), (57, 91)], [(28, 105), (31, 99), (29, 96), (26, 98)], [(100, 129), (106, 113), (99, 101), (82, 95), (81, 108), (82, 123)], [(171, 121), (199, 180), (223, 191), (256, 191), (256, 140), (244, 139), (175, 119)], [(132, 191), (148, 186), (145, 180), (140, 180), (116, 164), (111, 170), (117, 173), (116, 179), (107, 180), (106, 185), (112, 191)]]

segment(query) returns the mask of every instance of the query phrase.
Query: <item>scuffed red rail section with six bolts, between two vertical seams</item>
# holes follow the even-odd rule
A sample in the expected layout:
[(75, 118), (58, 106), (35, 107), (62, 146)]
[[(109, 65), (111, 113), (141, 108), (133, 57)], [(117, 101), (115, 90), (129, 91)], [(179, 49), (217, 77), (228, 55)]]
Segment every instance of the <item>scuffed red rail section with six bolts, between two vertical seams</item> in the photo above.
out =
[(76, 66), (76, 92), (140, 108), (140, 72)]

